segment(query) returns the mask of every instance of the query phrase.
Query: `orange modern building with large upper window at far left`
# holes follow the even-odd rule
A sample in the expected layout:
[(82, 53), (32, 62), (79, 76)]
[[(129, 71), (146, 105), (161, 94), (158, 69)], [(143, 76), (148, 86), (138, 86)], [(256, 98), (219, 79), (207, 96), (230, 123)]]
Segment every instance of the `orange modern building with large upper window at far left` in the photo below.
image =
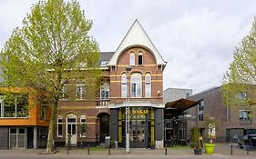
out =
[(49, 107), (32, 90), (0, 87), (0, 149), (46, 146)]

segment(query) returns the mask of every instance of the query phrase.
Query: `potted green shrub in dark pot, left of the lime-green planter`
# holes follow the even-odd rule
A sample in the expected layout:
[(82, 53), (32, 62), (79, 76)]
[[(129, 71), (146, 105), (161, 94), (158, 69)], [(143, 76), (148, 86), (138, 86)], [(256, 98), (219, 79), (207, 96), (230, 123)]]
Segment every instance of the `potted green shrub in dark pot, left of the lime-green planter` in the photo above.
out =
[(190, 129), (191, 141), (194, 148), (194, 154), (201, 154), (200, 146), (200, 131), (198, 127), (192, 127)]

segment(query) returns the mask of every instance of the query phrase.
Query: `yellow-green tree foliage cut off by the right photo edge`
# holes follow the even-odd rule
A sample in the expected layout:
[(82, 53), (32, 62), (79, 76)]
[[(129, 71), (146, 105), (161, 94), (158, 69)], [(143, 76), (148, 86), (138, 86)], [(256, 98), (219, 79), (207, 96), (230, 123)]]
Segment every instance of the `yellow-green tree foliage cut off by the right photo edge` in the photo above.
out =
[(234, 61), (222, 81), (223, 102), (229, 106), (256, 104), (256, 17), (251, 32), (234, 49)]

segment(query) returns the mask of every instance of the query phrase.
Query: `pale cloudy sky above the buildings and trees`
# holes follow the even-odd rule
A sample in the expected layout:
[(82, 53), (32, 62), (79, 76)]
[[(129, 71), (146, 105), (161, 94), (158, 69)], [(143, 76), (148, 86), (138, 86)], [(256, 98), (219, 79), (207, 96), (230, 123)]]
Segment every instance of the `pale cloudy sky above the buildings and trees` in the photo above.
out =
[[(100, 51), (116, 51), (138, 19), (163, 59), (164, 90), (220, 86), (233, 50), (251, 30), (255, 0), (78, 0)], [(0, 1), (0, 49), (36, 0)]]

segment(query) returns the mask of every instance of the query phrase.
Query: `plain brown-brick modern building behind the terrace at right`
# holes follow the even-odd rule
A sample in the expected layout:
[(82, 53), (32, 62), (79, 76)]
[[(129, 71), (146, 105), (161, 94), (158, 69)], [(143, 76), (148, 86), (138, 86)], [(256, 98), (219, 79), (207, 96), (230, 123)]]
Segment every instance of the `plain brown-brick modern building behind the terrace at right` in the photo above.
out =
[(194, 94), (189, 97), (189, 100), (200, 101), (200, 104), (189, 109), (189, 114), (195, 116), (195, 119), (188, 121), (188, 130), (197, 125), (200, 127), (201, 134), (206, 138), (208, 132), (204, 128), (204, 120), (208, 116), (218, 121), (217, 142), (230, 142), (234, 134), (240, 138), (245, 134), (256, 134), (256, 122), (253, 115), (256, 111), (255, 107), (224, 105), (221, 87)]

